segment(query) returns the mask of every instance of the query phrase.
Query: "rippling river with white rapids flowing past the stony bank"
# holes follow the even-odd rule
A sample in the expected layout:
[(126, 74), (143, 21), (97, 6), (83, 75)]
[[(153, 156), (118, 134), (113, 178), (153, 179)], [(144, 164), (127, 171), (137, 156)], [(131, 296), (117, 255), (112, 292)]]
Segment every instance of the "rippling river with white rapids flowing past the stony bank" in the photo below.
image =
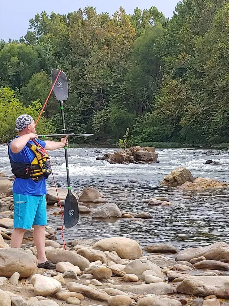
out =
[[(101, 153), (100, 153), (101, 150)], [(206, 150), (194, 149), (156, 149), (159, 163), (144, 165), (109, 164), (98, 161), (96, 157), (117, 149), (71, 148), (69, 171), (73, 191), (85, 186), (98, 188), (110, 202), (116, 203), (121, 211), (148, 211), (153, 219), (133, 222), (130, 219), (93, 220), (90, 215), (80, 215), (75, 228), (64, 231), (64, 238), (105, 238), (125, 236), (140, 242), (141, 246), (154, 243), (169, 243), (179, 250), (187, 247), (205, 246), (214, 242), (229, 243), (229, 188), (205, 189), (201, 192), (184, 191), (177, 188), (162, 187), (163, 177), (178, 166), (184, 166), (192, 175), (228, 181), (229, 155), (223, 151), (218, 156), (206, 156)], [(50, 152), (51, 163), (58, 187), (67, 187), (65, 159), (63, 150)], [(7, 147), (0, 146), (1, 171), (10, 175)], [(207, 159), (225, 162), (225, 165), (206, 165)], [(136, 179), (139, 184), (130, 184)], [(47, 185), (53, 186), (52, 178)], [(115, 190), (127, 190), (125, 196), (110, 194)], [(185, 196), (191, 199), (185, 200)], [(143, 200), (149, 197), (166, 196), (173, 207), (148, 206)], [(89, 205), (94, 211), (98, 205)], [(52, 213), (58, 207), (48, 209), (48, 224), (54, 228), (62, 225), (61, 216)], [(61, 242), (61, 233), (57, 233)]]

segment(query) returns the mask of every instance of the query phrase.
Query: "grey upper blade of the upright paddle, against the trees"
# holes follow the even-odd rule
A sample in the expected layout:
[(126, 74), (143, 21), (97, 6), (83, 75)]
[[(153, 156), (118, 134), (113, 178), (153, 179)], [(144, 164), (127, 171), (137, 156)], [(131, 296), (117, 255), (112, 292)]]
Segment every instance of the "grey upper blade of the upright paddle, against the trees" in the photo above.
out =
[[(52, 69), (52, 72), (51, 72), (52, 85), (54, 84), (55, 79), (57, 78), (59, 71), (60, 70), (58, 70), (58, 69)], [(61, 73), (60, 73), (60, 75), (57, 79), (57, 82), (54, 86), (53, 91), (54, 91), (54, 94), (55, 94), (58, 101), (66, 101), (67, 100), (67, 98), (68, 98), (67, 76), (63, 71), (61, 71)]]

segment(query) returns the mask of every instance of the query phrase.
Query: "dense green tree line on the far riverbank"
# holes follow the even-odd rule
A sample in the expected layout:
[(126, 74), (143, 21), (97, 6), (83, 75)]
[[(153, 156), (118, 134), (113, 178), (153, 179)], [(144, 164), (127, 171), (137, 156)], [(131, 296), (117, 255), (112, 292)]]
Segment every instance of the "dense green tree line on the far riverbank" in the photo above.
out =
[[(69, 82), (69, 132), (117, 142), (129, 127), (133, 144), (229, 142), (228, 12), (224, 0), (184, 0), (170, 20), (156, 7), (37, 14), (24, 38), (0, 42), (0, 124), (6, 103), (16, 108), (8, 122), (17, 103), (37, 111), (58, 68)], [(52, 96), (41, 132), (60, 131), (60, 122)]]

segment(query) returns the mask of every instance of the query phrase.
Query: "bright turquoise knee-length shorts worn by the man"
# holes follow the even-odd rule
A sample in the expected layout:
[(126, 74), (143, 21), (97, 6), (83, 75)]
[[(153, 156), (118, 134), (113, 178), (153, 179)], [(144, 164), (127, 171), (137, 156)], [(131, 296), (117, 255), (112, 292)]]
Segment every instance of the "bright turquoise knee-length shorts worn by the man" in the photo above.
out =
[(47, 224), (45, 194), (27, 196), (13, 192), (14, 228), (30, 229), (32, 225)]

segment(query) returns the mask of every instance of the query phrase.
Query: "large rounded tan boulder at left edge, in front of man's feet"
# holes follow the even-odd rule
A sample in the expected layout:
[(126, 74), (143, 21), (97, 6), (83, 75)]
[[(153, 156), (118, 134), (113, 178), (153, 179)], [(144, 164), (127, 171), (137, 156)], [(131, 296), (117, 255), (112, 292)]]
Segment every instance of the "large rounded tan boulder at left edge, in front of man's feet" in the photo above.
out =
[(0, 275), (11, 277), (15, 272), (20, 277), (31, 276), (37, 268), (37, 258), (23, 249), (0, 249)]

